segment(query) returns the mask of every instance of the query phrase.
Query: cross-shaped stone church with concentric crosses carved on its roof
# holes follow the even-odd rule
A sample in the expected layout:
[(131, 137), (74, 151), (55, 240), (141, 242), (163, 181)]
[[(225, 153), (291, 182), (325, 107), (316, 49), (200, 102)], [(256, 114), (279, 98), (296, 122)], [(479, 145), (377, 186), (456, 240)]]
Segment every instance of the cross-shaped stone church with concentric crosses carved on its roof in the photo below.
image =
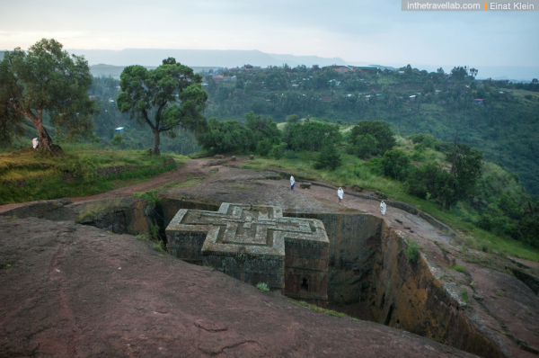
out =
[[(278, 206), (225, 202), (218, 211), (179, 210), (166, 236), (168, 252), (182, 260), (244, 282), (265, 282), (272, 290), (327, 300), (330, 242), (318, 219), (285, 218)], [(298, 277), (291, 280), (290, 274)], [(286, 275), (287, 282), (303, 282), (304, 289), (300, 283), (285, 288)]]

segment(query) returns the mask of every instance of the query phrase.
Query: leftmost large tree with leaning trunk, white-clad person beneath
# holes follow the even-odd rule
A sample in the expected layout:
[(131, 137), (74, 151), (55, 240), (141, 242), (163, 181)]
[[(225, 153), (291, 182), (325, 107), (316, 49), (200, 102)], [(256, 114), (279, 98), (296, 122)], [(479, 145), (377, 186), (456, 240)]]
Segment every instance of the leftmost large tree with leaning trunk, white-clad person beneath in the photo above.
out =
[(0, 122), (28, 118), (40, 134), (40, 149), (57, 155), (43, 126), (43, 115), (68, 138), (92, 134), (94, 104), (88, 98), (92, 76), (84, 57), (70, 56), (56, 40), (43, 39), (28, 51), (5, 52), (0, 62)]

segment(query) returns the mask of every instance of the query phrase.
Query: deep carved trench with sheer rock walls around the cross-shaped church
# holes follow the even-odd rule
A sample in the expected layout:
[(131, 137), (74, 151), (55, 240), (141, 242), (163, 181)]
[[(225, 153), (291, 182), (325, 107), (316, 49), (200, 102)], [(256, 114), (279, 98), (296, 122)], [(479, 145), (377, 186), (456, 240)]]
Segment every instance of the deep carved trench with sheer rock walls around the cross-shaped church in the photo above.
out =
[[(161, 237), (180, 209), (213, 210), (220, 203), (162, 198), (155, 208)], [(329, 309), (375, 321), (485, 357), (506, 356), (446, 293), (421, 259), (409, 264), (406, 243), (384, 220), (361, 213), (284, 212), (320, 219), (330, 239)], [(298, 282), (307, 289), (308, 280)], [(315, 303), (315, 302), (314, 302)]]

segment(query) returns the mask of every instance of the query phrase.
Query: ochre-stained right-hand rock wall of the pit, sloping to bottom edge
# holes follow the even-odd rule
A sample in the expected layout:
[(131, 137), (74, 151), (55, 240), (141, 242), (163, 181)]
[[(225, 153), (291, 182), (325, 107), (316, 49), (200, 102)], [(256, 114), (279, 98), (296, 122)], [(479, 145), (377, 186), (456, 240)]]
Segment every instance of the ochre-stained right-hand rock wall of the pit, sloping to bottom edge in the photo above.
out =
[(480, 329), (467, 316), (465, 305), (433, 276), (424, 256), (416, 264), (407, 261), (404, 237), (385, 221), (380, 242), (381, 255), (373, 270), (375, 304), (370, 306), (376, 322), (483, 357), (506, 356), (496, 338)]

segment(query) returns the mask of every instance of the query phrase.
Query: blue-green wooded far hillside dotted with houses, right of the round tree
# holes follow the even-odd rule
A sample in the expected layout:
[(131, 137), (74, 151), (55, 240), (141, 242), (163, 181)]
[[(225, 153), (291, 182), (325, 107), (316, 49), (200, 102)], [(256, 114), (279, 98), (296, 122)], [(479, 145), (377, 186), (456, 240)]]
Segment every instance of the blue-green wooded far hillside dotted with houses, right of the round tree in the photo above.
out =
[(250, 111), (278, 122), (290, 114), (338, 123), (381, 120), (404, 136), (429, 133), (445, 141), (458, 132), (460, 142), (481, 149), (486, 159), (516, 173), (527, 192), (539, 194), (539, 85), (402, 70), (339, 74), (272, 67), (235, 74), (235, 83), (208, 78), (206, 115), (220, 121), (243, 121)]

